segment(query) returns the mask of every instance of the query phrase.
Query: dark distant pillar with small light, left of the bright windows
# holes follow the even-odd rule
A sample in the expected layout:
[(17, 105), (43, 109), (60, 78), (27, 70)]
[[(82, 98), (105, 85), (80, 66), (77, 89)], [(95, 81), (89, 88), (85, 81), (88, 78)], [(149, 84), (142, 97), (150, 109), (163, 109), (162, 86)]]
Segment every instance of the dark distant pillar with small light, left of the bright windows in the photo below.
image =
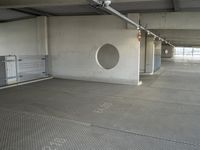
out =
[(171, 45), (162, 45), (162, 58), (172, 58), (174, 56), (174, 47)]

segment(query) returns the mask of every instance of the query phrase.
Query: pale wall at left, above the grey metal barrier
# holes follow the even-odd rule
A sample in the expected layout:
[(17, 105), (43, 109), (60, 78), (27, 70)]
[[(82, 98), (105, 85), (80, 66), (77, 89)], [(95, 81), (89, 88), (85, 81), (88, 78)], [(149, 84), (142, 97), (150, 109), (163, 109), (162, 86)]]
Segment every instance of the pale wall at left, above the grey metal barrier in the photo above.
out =
[(45, 18), (0, 24), (0, 55), (45, 55)]

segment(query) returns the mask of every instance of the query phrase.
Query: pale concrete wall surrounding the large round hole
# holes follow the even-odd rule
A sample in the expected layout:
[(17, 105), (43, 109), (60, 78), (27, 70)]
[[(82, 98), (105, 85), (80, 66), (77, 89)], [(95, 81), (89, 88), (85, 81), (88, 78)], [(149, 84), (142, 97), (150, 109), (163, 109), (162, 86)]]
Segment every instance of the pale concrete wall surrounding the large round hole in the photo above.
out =
[[(49, 52), (54, 77), (138, 84), (140, 42), (136, 30), (114, 16), (50, 17)], [(118, 65), (106, 70), (96, 62), (97, 50), (113, 44)]]

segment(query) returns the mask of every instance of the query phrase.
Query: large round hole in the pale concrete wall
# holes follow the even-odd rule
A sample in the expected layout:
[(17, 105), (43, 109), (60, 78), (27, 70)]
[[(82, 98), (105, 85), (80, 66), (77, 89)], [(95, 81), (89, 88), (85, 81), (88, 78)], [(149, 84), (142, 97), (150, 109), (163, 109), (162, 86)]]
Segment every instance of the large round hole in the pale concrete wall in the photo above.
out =
[(103, 45), (97, 51), (97, 62), (104, 69), (112, 69), (119, 62), (119, 51), (111, 44)]

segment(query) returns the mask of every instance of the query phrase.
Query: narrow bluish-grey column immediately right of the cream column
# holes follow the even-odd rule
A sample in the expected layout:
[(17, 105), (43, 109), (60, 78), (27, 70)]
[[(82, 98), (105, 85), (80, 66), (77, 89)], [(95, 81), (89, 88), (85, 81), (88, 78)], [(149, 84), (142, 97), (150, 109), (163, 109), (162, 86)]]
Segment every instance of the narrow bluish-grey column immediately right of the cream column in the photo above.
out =
[(156, 72), (161, 67), (162, 42), (161, 41), (155, 41), (154, 44), (155, 44), (154, 72)]

